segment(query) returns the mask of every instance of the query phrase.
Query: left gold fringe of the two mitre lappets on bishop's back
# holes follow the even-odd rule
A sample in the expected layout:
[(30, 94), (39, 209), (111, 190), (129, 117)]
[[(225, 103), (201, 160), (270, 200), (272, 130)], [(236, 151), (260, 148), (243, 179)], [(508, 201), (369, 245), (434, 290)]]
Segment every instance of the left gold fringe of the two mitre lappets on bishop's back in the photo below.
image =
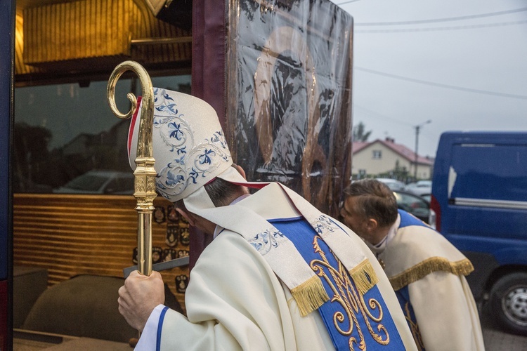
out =
[(322, 306), (327, 300), (330, 300), (322, 281), (316, 275), (291, 289), (291, 294), (294, 300), (297, 301), (302, 317), (306, 317), (318, 307)]

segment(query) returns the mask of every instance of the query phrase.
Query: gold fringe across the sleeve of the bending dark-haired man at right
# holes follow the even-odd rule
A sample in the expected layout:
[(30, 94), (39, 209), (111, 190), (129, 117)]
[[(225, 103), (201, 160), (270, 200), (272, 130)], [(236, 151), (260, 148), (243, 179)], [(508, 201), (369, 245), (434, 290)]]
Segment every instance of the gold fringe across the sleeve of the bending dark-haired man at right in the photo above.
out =
[(427, 276), (431, 272), (450, 272), (455, 275), (469, 275), (474, 270), (474, 266), (468, 258), (459, 260), (457, 262), (450, 262), (443, 257), (431, 257), (427, 260), (418, 263), (417, 265), (408, 268), (404, 272), (389, 278), (393, 290), (398, 291), (403, 287), (417, 282), (422, 277)]

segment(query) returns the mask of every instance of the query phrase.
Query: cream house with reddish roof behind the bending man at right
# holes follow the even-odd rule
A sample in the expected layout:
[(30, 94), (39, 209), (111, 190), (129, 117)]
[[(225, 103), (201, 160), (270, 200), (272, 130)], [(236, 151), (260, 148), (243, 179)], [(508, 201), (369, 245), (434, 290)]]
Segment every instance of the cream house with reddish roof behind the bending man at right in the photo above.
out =
[[(392, 138), (372, 142), (355, 142), (352, 146), (351, 173), (353, 179), (386, 177), (408, 174), (413, 178), (417, 166), (417, 180), (430, 179), (434, 160), (421, 157)], [(392, 177), (390, 177), (392, 178)], [(402, 179), (405, 180), (405, 179)]]

